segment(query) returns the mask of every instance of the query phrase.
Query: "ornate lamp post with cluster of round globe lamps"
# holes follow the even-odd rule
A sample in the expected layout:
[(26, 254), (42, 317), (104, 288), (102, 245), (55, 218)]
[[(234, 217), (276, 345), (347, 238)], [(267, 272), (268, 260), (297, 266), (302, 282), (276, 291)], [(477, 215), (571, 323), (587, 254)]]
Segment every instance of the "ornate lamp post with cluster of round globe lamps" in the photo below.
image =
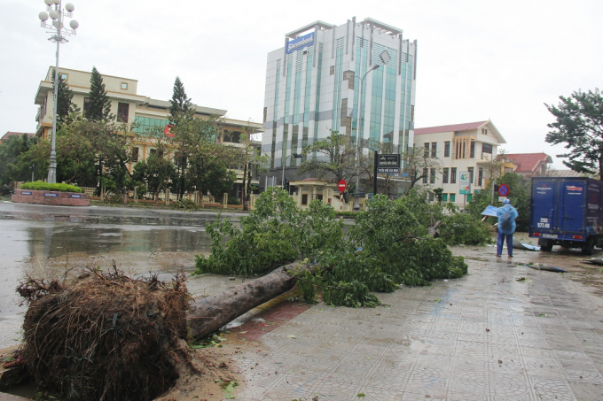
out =
[[(51, 142), (51, 164), (48, 167), (48, 182), (54, 184), (57, 182), (57, 104), (59, 97), (59, 45), (60, 43), (67, 43), (66, 35), (75, 35), (75, 29), (80, 26), (75, 19), (69, 22), (68, 29), (63, 25), (65, 17), (72, 18), (75, 10), (74, 4), (65, 4), (65, 11), (61, 4), (61, 0), (44, 0), (46, 4), (46, 12), (40, 12), (38, 18), (42, 21), (41, 27), (44, 29), (51, 29), (46, 31), (52, 36), (48, 39), (51, 42), (57, 43), (57, 65), (54, 68), (54, 112), (52, 115), (52, 142)], [(46, 21), (52, 19), (51, 23)]]

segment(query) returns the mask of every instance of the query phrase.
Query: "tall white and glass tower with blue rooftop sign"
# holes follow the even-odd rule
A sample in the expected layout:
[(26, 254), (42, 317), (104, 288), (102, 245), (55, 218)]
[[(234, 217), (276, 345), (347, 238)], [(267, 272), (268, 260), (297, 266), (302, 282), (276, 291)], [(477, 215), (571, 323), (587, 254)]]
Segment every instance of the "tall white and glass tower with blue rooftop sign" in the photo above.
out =
[(292, 153), (333, 131), (356, 143), (361, 80), (364, 140), (390, 143), (392, 153), (412, 146), (416, 55), (417, 41), (370, 18), (339, 27), (317, 21), (286, 34), (266, 70), (262, 153), (272, 159), (273, 184), (283, 163), (299, 166)]

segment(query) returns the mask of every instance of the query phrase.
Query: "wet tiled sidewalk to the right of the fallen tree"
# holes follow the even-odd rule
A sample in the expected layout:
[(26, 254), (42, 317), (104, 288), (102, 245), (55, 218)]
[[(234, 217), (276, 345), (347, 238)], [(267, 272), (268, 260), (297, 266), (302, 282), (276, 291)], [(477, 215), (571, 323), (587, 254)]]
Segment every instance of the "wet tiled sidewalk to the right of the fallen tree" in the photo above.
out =
[(459, 280), (380, 294), (387, 306), (302, 312), (239, 354), (237, 399), (603, 399), (600, 298), (486, 259)]

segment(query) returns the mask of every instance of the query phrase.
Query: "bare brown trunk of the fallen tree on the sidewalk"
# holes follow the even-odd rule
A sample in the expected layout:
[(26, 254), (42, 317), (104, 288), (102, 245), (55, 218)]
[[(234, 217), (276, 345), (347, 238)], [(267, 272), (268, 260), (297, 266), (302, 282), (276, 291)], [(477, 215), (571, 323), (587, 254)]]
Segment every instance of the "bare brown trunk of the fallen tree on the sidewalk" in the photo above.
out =
[(299, 264), (279, 267), (270, 274), (224, 290), (211, 297), (196, 298), (186, 319), (193, 338), (205, 338), (270, 299), (293, 289), (295, 279), (287, 270), (303, 268)]

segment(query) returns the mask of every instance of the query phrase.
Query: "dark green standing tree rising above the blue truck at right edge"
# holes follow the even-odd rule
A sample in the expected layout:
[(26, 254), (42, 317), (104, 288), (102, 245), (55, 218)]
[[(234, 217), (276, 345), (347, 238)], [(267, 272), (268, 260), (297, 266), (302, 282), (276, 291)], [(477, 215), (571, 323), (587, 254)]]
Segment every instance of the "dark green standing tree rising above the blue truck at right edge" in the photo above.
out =
[(569, 97), (560, 96), (560, 104), (544, 104), (555, 117), (546, 142), (563, 143), (568, 158), (563, 164), (578, 173), (599, 174), (603, 178), (603, 95), (599, 89), (578, 90)]

